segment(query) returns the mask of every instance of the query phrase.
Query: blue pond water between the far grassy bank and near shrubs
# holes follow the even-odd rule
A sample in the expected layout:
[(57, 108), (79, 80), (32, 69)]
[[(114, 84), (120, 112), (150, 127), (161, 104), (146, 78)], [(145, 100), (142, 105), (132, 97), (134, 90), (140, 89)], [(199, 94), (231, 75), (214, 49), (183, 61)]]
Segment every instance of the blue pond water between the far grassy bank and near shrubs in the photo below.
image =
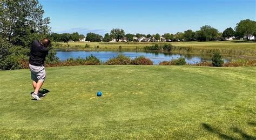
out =
[[(198, 63), (200, 61), (211, 61), (211, 55), (195, 55), (195, 54), (172, 54), (172, 53), (156, 53), (156, 52), (116, 52), (116, 51), (57, 51), (56, 56), (61, 61), (67, 60), (70, 57), (77, 58), (90, 55), (96, 56), (100, 61), (106, 62), (110, 58), (116, 57), (119, 54), (135, 58), (136, 56), (145, 56), (150, 58), (154, 64), (159, 64), (161, 61), (170, 61), (179, 57), (184, 57), (187, 63)], [(223, 57), (225, 62), (231, 61), (234, 57)]]

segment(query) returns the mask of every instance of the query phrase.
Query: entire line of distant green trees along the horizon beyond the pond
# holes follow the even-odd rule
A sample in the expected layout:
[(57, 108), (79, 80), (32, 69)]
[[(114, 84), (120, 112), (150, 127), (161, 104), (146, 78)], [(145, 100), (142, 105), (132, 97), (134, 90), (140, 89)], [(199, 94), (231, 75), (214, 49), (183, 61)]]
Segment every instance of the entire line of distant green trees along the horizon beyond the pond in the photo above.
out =
[[(125, 34), (123, 29), (113, 28), (110, 33), (106, 33), (103, 36), (96, 34), (96, 33), (87, 33), (86, 34), (86, 41), (104, 41), (110, 42), (115, 40), (118, 42), (119, 40), (127, 42), (131, 41), (138, 41), (139, 38), (145, 37), (150, 38), (151, 42), (160, 41), (161, 37), (165, 38), (165, 41), (214, 41), (214, 40), (228, 40), (231, 37), (235, 37), (237, 39), (246, 38), (249, 40), (250, 36), (256, 36), (256, 22), (250, 19), (241, 20), (237, 26), (234, 28), (229, 27), (226, 28), (224, 32), (219, 32), (216, 28), (205, 25), (200, 28), (198, 31), (187, 30), (184, 32), (178, 32), (176, 34), (165, 33), (164, 35), (160, 34)], [(83, 34), (76, 33), (63, 33), (57, 34), (52, 33), (51, 38), (55, 42), (69, 42), (69, 41), (79, 41), (80, 39), (85, 38)]]

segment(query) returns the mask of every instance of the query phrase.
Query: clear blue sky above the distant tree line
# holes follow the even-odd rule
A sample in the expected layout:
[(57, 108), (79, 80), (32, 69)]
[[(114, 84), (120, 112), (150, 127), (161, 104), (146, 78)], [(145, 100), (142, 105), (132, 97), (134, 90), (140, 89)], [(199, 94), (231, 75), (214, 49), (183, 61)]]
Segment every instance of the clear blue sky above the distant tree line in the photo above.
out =
[(104, 35), (164, 34), (210, 25), (223, 32), (243, 19), (255, 21), (256, 0), (39, 0), (52, 32)]

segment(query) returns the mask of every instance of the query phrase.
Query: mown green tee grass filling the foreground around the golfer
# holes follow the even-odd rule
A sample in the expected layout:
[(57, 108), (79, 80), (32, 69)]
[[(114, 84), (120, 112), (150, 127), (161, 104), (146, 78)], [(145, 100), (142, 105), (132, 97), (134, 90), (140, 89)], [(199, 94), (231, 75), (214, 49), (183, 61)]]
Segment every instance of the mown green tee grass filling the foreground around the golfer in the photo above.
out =
[[(98, 65), (0, 71), (0, 139), (255, 139), (256, 67)], [(97, 97), (102, 91), (102, 97)]]

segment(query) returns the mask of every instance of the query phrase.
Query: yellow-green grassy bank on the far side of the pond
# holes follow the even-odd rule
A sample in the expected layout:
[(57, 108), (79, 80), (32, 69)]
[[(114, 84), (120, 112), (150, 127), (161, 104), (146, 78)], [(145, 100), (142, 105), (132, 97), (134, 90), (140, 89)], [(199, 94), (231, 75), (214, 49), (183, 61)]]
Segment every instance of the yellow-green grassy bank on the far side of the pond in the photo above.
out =
[[(85, 48), (85, 44), (90, 48)], [(173, 53), (211, 54), (219, 49), (226, 55), (251, 55), (256, 56), (256, 42), (241, 41), (210, 41), (210, 42), (165, 42), (171, 43), (175, 49)], [(58, 42), (53, 45), (56, 49), (63, 50), (97, 50), (97, 51), (144, 51), (144, 47), (152, 46), (155, 42)], [(164, 45), (164, 42), (158, 42)], [(121, 47), (120, 47), (121, 46)]]

